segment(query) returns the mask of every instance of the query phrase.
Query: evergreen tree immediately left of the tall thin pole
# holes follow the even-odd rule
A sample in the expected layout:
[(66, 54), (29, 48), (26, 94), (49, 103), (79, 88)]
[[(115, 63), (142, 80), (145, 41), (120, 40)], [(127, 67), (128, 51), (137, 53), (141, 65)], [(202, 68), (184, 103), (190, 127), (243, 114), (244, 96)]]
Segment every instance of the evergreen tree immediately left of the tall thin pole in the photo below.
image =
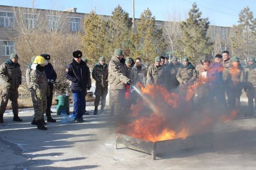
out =
[(118, 5), (114, 8), (112, 16), (108, 20), (108, 41), (106, 42), (105, 48), (110, 53), (109, 56), (112, 56), (114, 50), (117, 48), (128, 47), (123, 46), (123, 44), (129, 40), (130, 28), (131, 20), (129, 14)]

